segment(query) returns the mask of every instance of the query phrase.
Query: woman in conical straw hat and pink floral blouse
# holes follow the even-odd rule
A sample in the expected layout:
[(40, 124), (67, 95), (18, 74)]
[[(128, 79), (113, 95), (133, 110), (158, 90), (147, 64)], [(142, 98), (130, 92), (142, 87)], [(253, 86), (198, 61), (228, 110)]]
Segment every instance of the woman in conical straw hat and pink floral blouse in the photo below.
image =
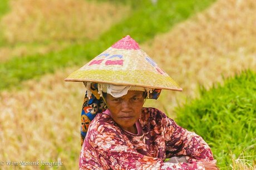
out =
[(143, 107), (161, 89), (182, 89), (130, 36), (66, 81), (86, 86), (80, 169), (218, 169), (203, 138), (158, 109)]

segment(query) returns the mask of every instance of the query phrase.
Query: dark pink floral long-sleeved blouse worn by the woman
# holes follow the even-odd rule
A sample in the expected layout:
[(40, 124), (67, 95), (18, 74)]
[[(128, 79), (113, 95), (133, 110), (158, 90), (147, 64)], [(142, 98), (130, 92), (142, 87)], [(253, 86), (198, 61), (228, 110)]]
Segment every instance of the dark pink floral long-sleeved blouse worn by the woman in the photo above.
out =
[[(80, 153), (80, 169), (204, 169), (212, 161), (206, 142), (178, 126), (156, 108), (143, 108), (140, 134), (121, 129), (105, 113), (97, 114), (88, 128)], [(166, 158), (186, 156), (188, 163)]]

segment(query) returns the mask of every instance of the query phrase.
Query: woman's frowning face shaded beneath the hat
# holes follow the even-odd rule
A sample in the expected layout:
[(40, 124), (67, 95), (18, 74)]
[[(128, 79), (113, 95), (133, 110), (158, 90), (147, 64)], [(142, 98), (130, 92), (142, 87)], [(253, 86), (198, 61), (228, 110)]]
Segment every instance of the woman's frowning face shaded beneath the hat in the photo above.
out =
[(125, 96), (115, 98), (107, 94), (106, 103), (112, 119), (126, 131), (136, 133), (135, 122), (140, 118), (144, 104), (142, 91), (128, 91)]

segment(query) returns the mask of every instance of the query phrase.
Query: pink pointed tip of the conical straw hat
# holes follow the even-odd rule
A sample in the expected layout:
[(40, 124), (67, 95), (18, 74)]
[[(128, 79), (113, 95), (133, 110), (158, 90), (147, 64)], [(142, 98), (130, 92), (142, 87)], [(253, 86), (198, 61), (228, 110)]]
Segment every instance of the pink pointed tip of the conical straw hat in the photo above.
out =
[(111, 46), (117, 49), (140, 49), (139, 44), (130, 36), (126, 36)]

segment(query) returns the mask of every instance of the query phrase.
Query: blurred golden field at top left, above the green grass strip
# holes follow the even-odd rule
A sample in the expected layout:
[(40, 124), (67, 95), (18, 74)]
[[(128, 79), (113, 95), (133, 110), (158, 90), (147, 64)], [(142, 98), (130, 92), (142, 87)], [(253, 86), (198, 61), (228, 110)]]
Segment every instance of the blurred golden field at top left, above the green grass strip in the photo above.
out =
[(1, 34), (8, 43), (0, 48), (0, 61), (12, 56), (44, 54), (97, 38), (130, 11), (120, 4), (83, 0), (10, 3), (11, 11), (0, 21)]

